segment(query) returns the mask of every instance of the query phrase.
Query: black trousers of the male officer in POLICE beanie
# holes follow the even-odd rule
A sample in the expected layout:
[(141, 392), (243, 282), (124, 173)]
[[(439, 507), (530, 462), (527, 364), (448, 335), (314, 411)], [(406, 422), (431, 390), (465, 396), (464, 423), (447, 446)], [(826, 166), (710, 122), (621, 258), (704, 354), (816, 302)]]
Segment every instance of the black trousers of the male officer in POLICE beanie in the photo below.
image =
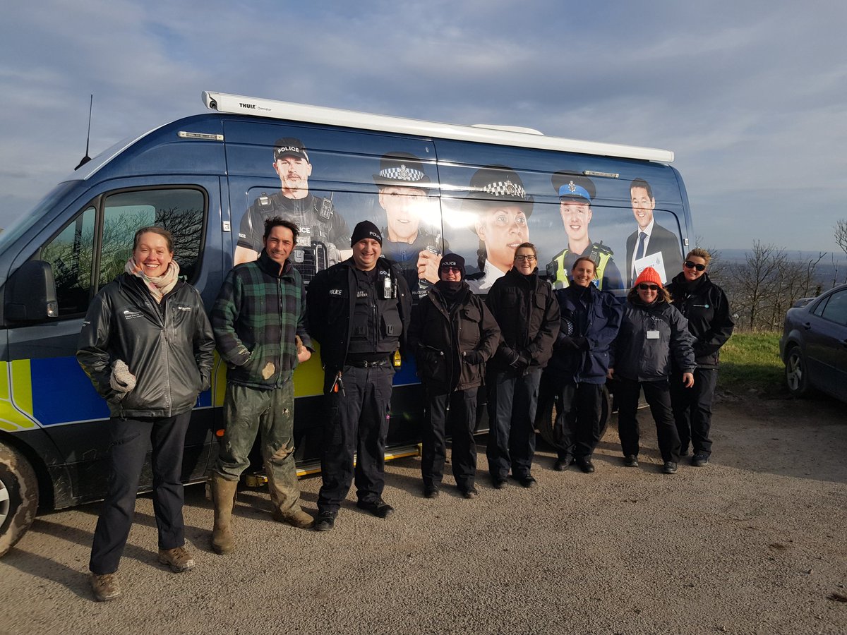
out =
[(358, 500), (372, 502), (382, 496), (394, 368), (389, 364), (346, 366), (339, 382), (335, 377), (329, 369), (324, 373), (323, 485), (318, 493), (318, 511), (333, 513), (350, 491), (354, 476)]

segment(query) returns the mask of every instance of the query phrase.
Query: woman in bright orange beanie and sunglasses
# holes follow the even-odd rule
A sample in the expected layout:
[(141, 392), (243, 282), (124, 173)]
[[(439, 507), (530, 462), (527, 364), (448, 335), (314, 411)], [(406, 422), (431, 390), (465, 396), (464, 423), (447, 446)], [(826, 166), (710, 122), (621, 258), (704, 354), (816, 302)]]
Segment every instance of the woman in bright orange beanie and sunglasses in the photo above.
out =
[(617, 381), (617, 433), (623, 448), (623, 464), (638, 467), (639, 394), (650, 405), (656, 422), (662, 472), (674, 474), (679, 462), (679, 433), (673, 420), (670, 395), (671, 360), (682, 374), (686, 388), (694, 385), (694, 338), (682, 313), (671, 304), (662, 278), (652, 267), (635, 280), (623, 308), (623, 321), (612, 344), (609, 378)]

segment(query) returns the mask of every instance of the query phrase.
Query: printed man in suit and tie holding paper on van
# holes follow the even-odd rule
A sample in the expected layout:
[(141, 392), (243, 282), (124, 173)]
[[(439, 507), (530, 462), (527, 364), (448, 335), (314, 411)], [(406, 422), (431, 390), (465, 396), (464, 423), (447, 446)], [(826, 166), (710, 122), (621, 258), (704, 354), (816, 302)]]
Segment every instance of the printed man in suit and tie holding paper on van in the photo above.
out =
[[(656, 269), (662, 283), (666, 283), (671, 278), (668, 273), (677, 271), (683, 261), (679, 238), (653, 218), (656, 199), (645, 179), (634, 179), (629, 184), (629, 197), (638, 229), (627, 238), (627, 289), (632, 288), (633, 280), (647, 266)], [(662, 267), (657, 266), (656, 254), (662, 255)]]

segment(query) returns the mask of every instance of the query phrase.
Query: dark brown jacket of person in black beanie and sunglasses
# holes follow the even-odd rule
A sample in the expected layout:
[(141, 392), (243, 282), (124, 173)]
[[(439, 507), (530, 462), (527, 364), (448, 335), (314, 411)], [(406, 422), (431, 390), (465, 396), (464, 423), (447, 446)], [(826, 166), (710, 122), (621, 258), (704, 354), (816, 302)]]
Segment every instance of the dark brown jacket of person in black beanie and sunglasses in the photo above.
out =
[(436, 286), (412, 310), (409, 349), (418, 362), (418, 377), (430, 389), (451, 392), (482, 385), (485, 362), (499, 341), (494, 316), (464, 281), (452, 306)]

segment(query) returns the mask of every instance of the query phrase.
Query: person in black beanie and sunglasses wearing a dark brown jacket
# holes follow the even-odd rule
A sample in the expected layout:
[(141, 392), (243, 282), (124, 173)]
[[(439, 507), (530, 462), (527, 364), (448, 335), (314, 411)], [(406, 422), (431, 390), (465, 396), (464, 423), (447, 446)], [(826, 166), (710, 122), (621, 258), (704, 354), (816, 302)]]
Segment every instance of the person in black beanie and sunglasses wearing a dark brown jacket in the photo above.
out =
[(424, 496), (439, 494), (446, 461), (445, 437), (452, 436), (453, 477), (467, 499), (476, 498), (477, 389), (485, 362), (497, 350), (500, 327), (465, 282), (465, 260), (441, 258), (439, 280), (412, 314), (409, 345), (418, 360), (418, 377), (426, 387), (427, 419), (421, 473)]

